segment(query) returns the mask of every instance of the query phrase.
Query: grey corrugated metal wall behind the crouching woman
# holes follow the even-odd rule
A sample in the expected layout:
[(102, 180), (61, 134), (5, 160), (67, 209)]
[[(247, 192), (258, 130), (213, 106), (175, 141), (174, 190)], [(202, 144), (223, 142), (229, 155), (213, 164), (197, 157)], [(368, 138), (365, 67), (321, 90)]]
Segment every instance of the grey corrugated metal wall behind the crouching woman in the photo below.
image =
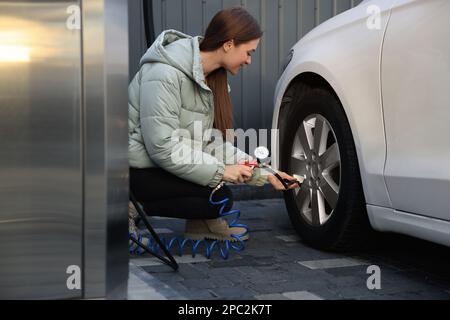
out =
[[(275, 86), (289, 49), (318, 24), (360, 2), (361, 0), (153, 0), (153, 18), (156, 35), (166, 29), (203, 35), (217, 11), (231, 6), (245, 7), (259, 21), (264, 36), (259, 50), (252, 56), (252, 65), (244, 68), (239, 75), (229, 77), (235, 128), (268, 129), (272, 121)], [(142, 34), (137, 32), (136, 36), (141, 37)]]

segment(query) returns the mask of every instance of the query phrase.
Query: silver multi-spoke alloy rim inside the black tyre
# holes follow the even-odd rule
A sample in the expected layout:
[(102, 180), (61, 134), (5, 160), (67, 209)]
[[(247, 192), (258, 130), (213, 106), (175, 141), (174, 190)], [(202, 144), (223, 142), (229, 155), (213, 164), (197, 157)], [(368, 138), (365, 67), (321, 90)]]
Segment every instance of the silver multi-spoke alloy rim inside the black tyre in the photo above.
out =
[(297, 129), (289, 169), (305, 179), (294, 190), (300, 214), (310, 225), (322, 226), (334, 213), (341, 181), (336, 135), (322, 115), (308, 116)]

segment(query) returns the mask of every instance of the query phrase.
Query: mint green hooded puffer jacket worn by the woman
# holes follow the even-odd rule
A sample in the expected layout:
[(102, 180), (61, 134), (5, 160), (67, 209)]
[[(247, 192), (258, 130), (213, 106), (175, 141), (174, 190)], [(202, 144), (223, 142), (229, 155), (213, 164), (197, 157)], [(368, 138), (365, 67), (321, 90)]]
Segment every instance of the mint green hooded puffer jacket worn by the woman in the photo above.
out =
[(134, 168), (160, 167), (215, 187), (225, 164), (251, 157), (207, 134), (213, 127), (214, 99), (205, 84), (201, 40), (166, 30), (142, 57), (128, 88), (129, 163)]

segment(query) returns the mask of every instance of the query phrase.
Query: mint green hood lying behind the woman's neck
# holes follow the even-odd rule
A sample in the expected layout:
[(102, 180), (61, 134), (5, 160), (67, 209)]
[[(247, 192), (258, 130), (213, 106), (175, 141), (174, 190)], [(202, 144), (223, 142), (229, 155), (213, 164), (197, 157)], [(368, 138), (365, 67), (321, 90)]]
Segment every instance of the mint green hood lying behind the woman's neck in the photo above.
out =
[(140, 66), (151, 62), (168, 64), (207, 89), (199, 47), (202, 39), (172, 29), (163, 31), (141, 58)]

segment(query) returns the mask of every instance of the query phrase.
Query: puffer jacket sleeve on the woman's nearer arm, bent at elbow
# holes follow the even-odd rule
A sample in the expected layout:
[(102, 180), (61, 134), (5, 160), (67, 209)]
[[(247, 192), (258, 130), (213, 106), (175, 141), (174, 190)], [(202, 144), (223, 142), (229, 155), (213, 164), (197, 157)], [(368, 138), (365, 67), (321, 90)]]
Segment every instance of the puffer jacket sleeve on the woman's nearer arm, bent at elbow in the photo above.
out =
[(178, 81), (145, 81), (140, 90), (141, 131), (152, 161), (185, 180), (217, 186), (225, 165), (180, 133)]

